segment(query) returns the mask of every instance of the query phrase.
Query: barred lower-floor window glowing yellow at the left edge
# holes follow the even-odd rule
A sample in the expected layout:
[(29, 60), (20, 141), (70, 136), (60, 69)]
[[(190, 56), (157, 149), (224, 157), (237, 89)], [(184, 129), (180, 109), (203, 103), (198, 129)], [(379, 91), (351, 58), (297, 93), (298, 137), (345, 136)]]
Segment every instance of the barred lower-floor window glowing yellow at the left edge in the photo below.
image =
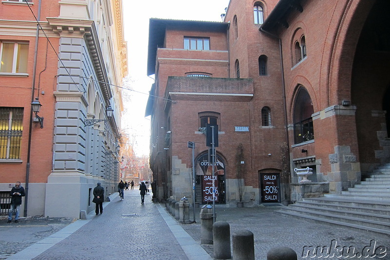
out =
[(0, 107), (0, 159), (20, 159), (23, 108)]

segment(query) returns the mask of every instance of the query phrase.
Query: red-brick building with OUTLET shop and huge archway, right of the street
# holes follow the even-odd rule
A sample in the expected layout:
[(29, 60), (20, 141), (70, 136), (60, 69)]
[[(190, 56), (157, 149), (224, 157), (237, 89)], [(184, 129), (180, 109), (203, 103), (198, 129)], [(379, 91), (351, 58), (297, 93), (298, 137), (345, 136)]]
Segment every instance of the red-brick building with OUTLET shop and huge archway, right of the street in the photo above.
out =
[(218, 125), (218, 203), (235, 204), (242, 182), (247, 206), (280, 202), (306, 167), (337, 194), (389, 162), (389, 10), (386, 0), (231, 0), (224, 22), (151, 19), (158, 199), (193, 197), (194, 141), (195, 201), (207, 202), (205, 123)]

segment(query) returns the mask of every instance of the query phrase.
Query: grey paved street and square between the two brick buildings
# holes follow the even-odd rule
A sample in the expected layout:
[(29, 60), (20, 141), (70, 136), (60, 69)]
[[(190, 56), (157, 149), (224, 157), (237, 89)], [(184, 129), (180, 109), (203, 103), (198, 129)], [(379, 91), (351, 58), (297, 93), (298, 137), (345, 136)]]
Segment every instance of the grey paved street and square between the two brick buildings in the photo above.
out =
[[(152, 203), (150, 195), (146, 195), (145, 204), (141, 204), (138, 190), (125, 191), (123, 201), (117, 194), (111, 199), (104, 202), (102, 215), (96, 216), (93, 211), (87, 220), (26, 218), (18, 224), (7, 224), (6, 219), (0, 219), (0, 259), (212, 259), (213, 246), (200, 245), (200, 208), (195, 209), (196, 223), (179, 224), (167, 213), (164, 204)], [(364, 232), (283, 217), (274, 213), (279, 207), (217, 205), (216, 220), (227, 221), (231, 235), (240, 229), (252, 231), (256, 260), (265, 260), (267, 252), (277, 246), (291, 247), (298, 259), (320, 260), (325, 257), (317, 254), (302, 258), (302, 253), (307, 252), (304, 246), (335, 245), (353, 246), (355, 254), (370, 248), (385, 248), (386, 252), (382, 258), (380, 255), (346, 258), (334, 251), (335, 255), (326, 259), (390, 260), (390, 238), (375, 238)], [(190, 220), (193, 216), (191, 208)]]

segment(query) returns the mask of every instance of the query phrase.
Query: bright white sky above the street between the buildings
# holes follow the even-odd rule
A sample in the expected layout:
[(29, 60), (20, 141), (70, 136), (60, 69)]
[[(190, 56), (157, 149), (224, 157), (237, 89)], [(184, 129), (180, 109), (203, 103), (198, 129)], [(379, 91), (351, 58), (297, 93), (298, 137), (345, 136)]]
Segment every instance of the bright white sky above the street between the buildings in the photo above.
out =
[[(128, 71), (133, 80), (131, 87), (146, 94), (154, 83), (146, 75), (149, 19), (222, 21), (221, 14), (229, 4), (229, 0), (122, 1)], [(124, 103), (128, 112), (123, 114), (122, 129), (131, 136), (137, 156), (149, 155), (150, 117), (144, 118), (147, 100), (148, 95), (131, 91), (131, 101)]]

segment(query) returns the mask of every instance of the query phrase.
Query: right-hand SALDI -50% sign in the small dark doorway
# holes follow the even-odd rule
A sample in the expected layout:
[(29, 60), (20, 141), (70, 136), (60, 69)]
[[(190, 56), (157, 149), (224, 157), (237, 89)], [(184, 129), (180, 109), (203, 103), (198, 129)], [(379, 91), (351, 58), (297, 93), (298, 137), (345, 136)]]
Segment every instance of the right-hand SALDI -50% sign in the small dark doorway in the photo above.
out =
[(278, 173), (260, 174), (261, 202), (280, 202), (280, 175)]

